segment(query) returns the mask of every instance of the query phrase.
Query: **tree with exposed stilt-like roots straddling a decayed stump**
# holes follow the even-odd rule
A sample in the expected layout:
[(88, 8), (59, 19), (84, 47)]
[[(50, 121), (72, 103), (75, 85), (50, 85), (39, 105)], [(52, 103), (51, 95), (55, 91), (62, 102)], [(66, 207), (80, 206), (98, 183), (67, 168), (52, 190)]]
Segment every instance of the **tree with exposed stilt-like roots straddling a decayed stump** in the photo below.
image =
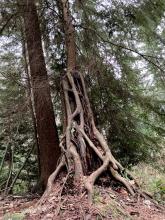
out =
[(65, 165), (69, 173), (74, 173), (74, 191), (77, 188), (78, 193), (83, 193), (86, 189), (90, 203), (93, 185), (96, 179), (105, 172), (125, 185), (133, 195), (133, 187), (120, 175), (123, 167), (113, 157), (103, 135), (95, 126), (83, 75), (76, 69), (75, 30), (69, 2), (59, 0), (57, 3), (63, 15), (67, 53), (67, 71), (62, 78), (67, 124), (60, 143), (61, 162), (48, 180), (45, 196), (49, 194), (54, 179)]

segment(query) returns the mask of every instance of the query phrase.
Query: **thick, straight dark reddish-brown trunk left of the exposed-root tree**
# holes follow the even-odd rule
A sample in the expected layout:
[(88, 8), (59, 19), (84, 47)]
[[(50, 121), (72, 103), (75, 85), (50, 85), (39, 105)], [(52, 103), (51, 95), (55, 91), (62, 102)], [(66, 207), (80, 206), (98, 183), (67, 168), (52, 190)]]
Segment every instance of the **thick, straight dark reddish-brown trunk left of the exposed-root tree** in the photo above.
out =
[[(20, 1), (20, 4), (22, 4), (22, 1)], [(59, 159), (59, 140), (34, 0), (23, 0), (23, 5), (20, 7), (24, 18), (34, 108), (37, 120), (41, 183), (45, 187), (47, 179), (54, 171)]]

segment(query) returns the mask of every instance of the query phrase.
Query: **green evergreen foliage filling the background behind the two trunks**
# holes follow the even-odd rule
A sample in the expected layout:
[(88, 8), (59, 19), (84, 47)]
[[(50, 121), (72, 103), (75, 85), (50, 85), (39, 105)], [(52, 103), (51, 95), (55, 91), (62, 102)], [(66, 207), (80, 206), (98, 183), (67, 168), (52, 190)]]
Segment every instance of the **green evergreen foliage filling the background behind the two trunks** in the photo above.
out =
[[(61, 134), (60, 77), (66, 57), (57, 2), (40, 1), (38, 13)], [(79, 51), (77, 68), (84, 73), (95, 121), (115, 156), (131, 166), (144, 160), (153, 162), (163, 152), (165, 2), (124, 2), (77, 0), (72, 10)], [(15, 1), (0, 3), (0, 189), (4, 190), (10, 171), (7, 187), (35, 140), (21, 48), (20, 11)], [(22, 190), (18, 186), (26, 185), (27, 190), (37, 180), (36, 154), (35, 146), (14, 192)]]

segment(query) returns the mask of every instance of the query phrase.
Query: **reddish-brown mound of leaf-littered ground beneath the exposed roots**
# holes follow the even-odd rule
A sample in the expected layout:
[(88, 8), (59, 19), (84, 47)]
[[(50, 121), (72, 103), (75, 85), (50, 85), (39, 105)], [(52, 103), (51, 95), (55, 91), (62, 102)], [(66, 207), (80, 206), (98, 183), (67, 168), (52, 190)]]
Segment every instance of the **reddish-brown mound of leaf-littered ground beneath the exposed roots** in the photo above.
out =
[[(65, 191), (65, 190), (64, 190)], [(67, 191), (68, 192), (68, 191)], [(130, 197), (123, 187), (95, 186), (93, 201), (89, 206), (87, 196), (76, 195), (74, 190), (61, 191), (61, 183), (46, 201), (39, 198), (8, 197), (0, 200), (2, 220), (165, 220), (163, 209), (148, 199)]]

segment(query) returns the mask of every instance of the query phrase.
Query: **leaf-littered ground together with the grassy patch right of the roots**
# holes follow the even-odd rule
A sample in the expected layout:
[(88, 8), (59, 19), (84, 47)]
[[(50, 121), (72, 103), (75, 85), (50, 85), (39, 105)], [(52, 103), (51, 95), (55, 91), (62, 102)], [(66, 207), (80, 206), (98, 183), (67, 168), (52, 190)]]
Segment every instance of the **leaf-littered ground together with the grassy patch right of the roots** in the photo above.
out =
[(131, 172), (136, 174), (142, 189), (153, 196), (155, 204), (161, 205), (162, 209), (147, 198), (130, 196), (121, 185), (108, 182), (104, 177), (95, 185), (93, 204), (89, 206), (87, 196), (76, 195), (72, 184), (69, 185), (69, 181), (65, 184), (66, 177), (61, 174), (46, 202), (39, 204), (37, 194), (33, 197), (28, 194), (1, 199), (0, 219), (149, 220), (152, 217), (153, 220), (164, 220), (164, 174), (144, 163), (134, 166)]

